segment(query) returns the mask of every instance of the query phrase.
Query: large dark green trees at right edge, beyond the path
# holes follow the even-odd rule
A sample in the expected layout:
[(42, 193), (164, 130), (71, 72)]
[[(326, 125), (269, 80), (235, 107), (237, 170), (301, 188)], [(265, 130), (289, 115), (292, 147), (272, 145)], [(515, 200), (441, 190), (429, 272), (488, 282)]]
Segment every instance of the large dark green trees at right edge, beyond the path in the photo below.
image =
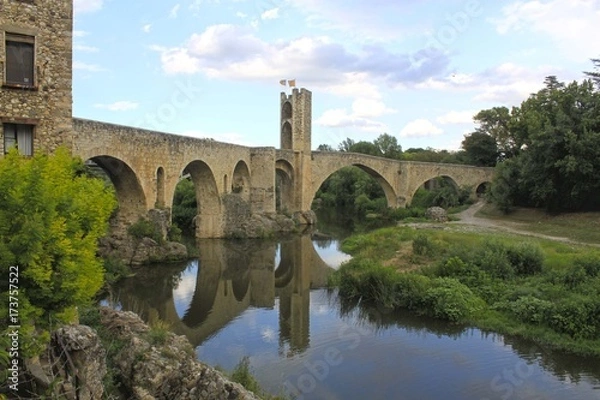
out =
[(490, 199), (505, 212), (514, 206), (552, 213), (600, 209), (599, 109), (591, 80), (565, 84), (549, 76), (510, 113), (480, 112), (476, 119), (500, 132), (496, 141), (511, 161), (498, 167)]

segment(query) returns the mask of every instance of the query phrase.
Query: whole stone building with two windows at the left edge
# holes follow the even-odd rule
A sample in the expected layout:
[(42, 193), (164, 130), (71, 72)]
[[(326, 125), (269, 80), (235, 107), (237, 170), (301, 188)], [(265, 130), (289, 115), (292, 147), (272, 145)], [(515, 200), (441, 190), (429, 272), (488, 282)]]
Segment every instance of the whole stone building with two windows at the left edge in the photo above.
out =
[(0, 157), (72, 142), (72, 0), (0, 0)]

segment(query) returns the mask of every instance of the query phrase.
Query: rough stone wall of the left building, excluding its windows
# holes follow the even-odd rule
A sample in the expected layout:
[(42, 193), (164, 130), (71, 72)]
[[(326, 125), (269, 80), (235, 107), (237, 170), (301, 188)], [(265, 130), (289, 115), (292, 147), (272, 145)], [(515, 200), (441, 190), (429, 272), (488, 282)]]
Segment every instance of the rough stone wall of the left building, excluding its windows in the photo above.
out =
[[(0, 122), (34, 125), (34, 153), (71, 145), (72, 30), (71, 1), (0, 0)], [(6, 82), (7, 33), (34, 37), (30, 85)]]

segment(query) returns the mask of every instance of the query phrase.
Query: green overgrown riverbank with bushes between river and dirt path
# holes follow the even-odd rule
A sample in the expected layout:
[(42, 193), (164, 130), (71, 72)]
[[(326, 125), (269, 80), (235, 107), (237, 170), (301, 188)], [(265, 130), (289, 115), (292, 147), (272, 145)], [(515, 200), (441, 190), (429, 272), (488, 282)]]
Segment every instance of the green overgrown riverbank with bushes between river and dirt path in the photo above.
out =
[(600, 357), (600, 252), (450, 224), (346, 239), (331, 280), (346, 301), (408, 309)]

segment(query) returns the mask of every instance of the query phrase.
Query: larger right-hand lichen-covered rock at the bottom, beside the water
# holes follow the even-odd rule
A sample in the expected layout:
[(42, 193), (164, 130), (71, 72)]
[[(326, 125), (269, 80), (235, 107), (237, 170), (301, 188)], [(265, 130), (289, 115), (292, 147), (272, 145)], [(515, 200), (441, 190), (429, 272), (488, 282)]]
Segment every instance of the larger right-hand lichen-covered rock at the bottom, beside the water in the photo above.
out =
[(241, 385), (196, 360), (184, 336), (173, 333), (156, 338), (132, 312), (100, 310), (102, 325), (125, 343), (113, 360), (121, 384), (136, 400), (258, 399)]

